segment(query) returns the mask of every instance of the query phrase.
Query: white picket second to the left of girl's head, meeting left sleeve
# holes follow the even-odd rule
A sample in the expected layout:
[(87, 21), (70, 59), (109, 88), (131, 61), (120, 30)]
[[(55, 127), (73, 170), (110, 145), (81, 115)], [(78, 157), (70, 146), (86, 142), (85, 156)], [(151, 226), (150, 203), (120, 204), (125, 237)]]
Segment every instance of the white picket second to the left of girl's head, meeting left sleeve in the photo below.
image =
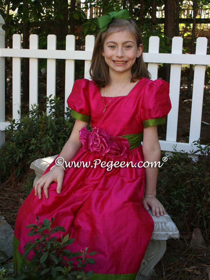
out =
[[(75, 36), (67, 35), (66, 36), (66, 50), (75, 50)], [(73, 84), (74, 84), (74, 69), (75, 69), (75, 60), (66, 59), (66, 74), (65, 74), (65, 112), (67, 105), (67, 98), (71, 93)]]

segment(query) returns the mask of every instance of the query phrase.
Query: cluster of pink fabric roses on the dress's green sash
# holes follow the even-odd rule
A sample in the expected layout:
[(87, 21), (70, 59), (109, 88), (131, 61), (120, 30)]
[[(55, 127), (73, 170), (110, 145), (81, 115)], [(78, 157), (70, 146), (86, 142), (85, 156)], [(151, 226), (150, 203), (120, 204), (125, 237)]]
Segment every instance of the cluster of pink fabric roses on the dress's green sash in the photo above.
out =
[(96, 127), (89, 131), (83, 127), (79, 131), (79, 139), (85, 152), (98, 152), (110, 159), (122, 160), (127, 156), (130, 148), (128, 140), (123, 137), (111, 137), (105, 130)]

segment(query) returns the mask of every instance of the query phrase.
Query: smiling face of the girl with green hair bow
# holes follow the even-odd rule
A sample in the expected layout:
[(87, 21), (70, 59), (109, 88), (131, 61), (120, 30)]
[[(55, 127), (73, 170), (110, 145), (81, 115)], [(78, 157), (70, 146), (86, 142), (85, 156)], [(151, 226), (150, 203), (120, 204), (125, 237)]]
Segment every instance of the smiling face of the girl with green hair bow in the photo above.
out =
[(143, 51), (142, 44), (137, 46), (129, 31), (110, 34), (104, 41), (102, 55), (109, 66), (109, 73), (131, 73), (131, 68)]

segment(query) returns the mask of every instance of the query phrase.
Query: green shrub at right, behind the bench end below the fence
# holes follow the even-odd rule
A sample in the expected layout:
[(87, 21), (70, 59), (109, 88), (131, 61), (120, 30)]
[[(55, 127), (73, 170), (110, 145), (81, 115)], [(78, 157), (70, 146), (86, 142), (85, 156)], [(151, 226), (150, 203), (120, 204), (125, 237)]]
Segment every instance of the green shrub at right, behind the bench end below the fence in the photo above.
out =
[(159, 198), (175, 221), (184, 220), (188, 231), (195, 226), (205, 231), (210, 225), (210, 146), (202, 148), (199, 140), (193, 145), (200, 152), (198, 161), (174, 149), (160, 168), (163, 179)]

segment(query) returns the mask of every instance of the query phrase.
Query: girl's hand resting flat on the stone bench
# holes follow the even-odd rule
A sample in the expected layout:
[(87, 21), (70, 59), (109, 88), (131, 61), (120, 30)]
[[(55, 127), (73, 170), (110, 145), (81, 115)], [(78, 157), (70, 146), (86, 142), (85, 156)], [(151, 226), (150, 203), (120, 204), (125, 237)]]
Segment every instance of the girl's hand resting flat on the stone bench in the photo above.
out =
[(147, 211), (149, 211), (150, 206), (152, 208), (153, 216), (156, 215), (157, 217), (159, 217), (160, 215), (163, 216), (163, 214), (165, 214), (164, 207), (153, 194), (145, 194), (144, 198), (142, 199), (142, 205)]

